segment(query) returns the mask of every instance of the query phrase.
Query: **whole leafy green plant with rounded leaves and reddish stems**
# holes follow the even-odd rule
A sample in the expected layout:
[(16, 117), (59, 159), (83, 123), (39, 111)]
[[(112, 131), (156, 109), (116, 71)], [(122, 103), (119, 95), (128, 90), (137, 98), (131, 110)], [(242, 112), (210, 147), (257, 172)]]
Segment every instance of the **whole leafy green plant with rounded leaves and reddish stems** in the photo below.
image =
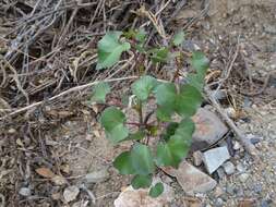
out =
[[(178, 47), (183, 39), (183, 32), (179, 32), (172, 37), (168, 47), (147, 48), (145, 47), (146, 33), (142, 29), (124, 34), (108, 32), (98, 42), (96, 69), (101, 70), (115, 65), (122, 52), (129, 50), (135, 54), (135, 64), (142, 72), (145, 58), (160, 64), (172, 59), (177, 65), (181, 66), (182, 52)], [(101, 113), (99, 121), (108, 139), (113, 144), (132, 142), (130, 150), (115, 158), (113, 167), (121, 174), (134, 175), (131, 182), (134, 188), (152, 186), (153, 175), (158, 168), (178, 168), (188, 155), (194, 132), (191, 117), (202, 102), (201, 94), (208, 60), (202, 52), (195, 51), (190, 63), (194, 71), (187, 76), (185, 83), (173, 83), (176, 78), (171, 82), (158, 81), (143, 74), (132, 84), (131, 92), (134, 96), (132, 96), (131, 107), (137, 113), (140, 120), (137, 123), (128, 122), (123, 109), (116, 106), (106, 108)], [(93, 100), (105, 102), (108, 93), (110, 93), (110, 87), (103, 82), (94, 87)], [(147, 112), (146, 106), (149, 99), (155, 100), (156, 110)], [(149, 122), (153, 114), (156, 121)], [(180, 122), (173, 121), (175, 114), (181, 118)], [(128, 127), (130, 124), (135, 125), (137, 130), (130, 131)], [(155, 138), (155, 145), (151, 145), (151, 138)], [(163, 191), (163, 184), (156, 183), (151, 187), (149, 195), (157, 197)]]

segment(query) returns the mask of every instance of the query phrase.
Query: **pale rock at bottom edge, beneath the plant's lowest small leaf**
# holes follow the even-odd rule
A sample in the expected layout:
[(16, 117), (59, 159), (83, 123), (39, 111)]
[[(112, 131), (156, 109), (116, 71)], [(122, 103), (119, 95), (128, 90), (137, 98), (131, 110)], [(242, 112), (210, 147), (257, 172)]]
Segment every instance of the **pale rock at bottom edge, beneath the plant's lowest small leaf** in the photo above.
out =
[[(160, 182), (159, 179), (155, 179), (153, 184)], [(115, 200), (115, 207), (163, 207), (168, 205), (173, 199), (173, 190), (163, 183), (164, 192), (156, 198), (148, 195), (149, 188), (134, 190), (132, 186), (128, 186), (119, 197)]]

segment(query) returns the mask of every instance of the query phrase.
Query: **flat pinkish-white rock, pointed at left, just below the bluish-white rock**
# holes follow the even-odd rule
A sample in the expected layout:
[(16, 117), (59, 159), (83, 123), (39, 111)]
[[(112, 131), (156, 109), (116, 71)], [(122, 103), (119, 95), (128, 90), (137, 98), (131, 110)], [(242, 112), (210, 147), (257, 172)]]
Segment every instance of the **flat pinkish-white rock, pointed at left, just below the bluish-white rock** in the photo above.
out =
[(206, 193), (213, 190), (217, 182), (197, 168), (182, 161), (178, 169), (166, 169), (168, 174), (176, 176), (187, 194)]

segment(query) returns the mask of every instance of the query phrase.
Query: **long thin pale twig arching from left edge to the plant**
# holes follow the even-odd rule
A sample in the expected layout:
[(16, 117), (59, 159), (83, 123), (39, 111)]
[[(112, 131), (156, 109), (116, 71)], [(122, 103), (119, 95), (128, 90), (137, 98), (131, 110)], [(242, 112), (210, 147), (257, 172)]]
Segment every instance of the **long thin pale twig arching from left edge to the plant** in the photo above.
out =
[[(120, 78), (111, 78), (111, 80), (103, 80), (103, 81), (92, 82), (92, 83), (88, 83), (88, 84), (84, 84), (84, 85), (80, 85), (80, 86), (72, 87), (72, 88), (70, 88), (70, 89), (68, 89), (68, 90), (65, 90), (65, 92), (62, 92), (62, 93), (60, 93), (60, 94), (58, 94), (58, 95), (56, 95), (56, 96), (52, 96), (52, 97), (49, 98), (47, 101), (52, 101), (52, 100), (58, 99), (58, 98), (60, 98), (60, 97), (62, 97), (62, 96), (64, 96), (64, 95), (71, 94), (71, 93), (73, 93), (73, 92), (79, 92), (79, 90), (85, 89), (85, 88), (91, 87), (91, 86), (94, 86), (94, 85), (96, 85), (96, 84), (98, 84), (98, 83), (103, 83), (103, 82), (105, 82), (105, 83), (110, 83), (110, 82), (119, 82), (119, 81), (127, 81), (127, 80), (134, 80), (134, 78), (137, 78), (137, 76), (128, 76), (128, 77), (120, 77)], [(32, 108), (41, 106), (44, 102), (45, 102), (45, 101), (38, 101), (38, 102), (34, 102), (34, 104), (32, 104), (32, 105), (29, 105), (29, 106), (27, 106), (27, 107), (23, 107), (23, 108), (21, 108), (21, 109), (17, 109), (16, 111), (13, 111), (13, 112), (11, 112), (11, 113), (9, 113), (9, 114), (7, 114), (7, 115), (0, 118), (0, 121), (3, 121), (4, 119), (7, 119), (7, 118), (9, 118), (9, 117), (19, 114), (19, 113), (24, 112), (24, 111), (26, 111), (26, 110), (29, 110), (29, 109), (32, 109)]]

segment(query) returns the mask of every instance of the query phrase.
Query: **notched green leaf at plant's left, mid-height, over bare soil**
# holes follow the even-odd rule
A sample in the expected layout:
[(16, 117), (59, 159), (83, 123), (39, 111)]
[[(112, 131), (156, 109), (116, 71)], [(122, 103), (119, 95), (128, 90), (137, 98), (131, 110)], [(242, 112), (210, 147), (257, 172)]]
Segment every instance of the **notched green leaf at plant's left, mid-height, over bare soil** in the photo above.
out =
[(107, 108), (100, 117), (100, 123), (105, 127), (107, 138), (118, 143), (129, 135), (129, 130), (123, 125), (125, 115), (116, 107)]

